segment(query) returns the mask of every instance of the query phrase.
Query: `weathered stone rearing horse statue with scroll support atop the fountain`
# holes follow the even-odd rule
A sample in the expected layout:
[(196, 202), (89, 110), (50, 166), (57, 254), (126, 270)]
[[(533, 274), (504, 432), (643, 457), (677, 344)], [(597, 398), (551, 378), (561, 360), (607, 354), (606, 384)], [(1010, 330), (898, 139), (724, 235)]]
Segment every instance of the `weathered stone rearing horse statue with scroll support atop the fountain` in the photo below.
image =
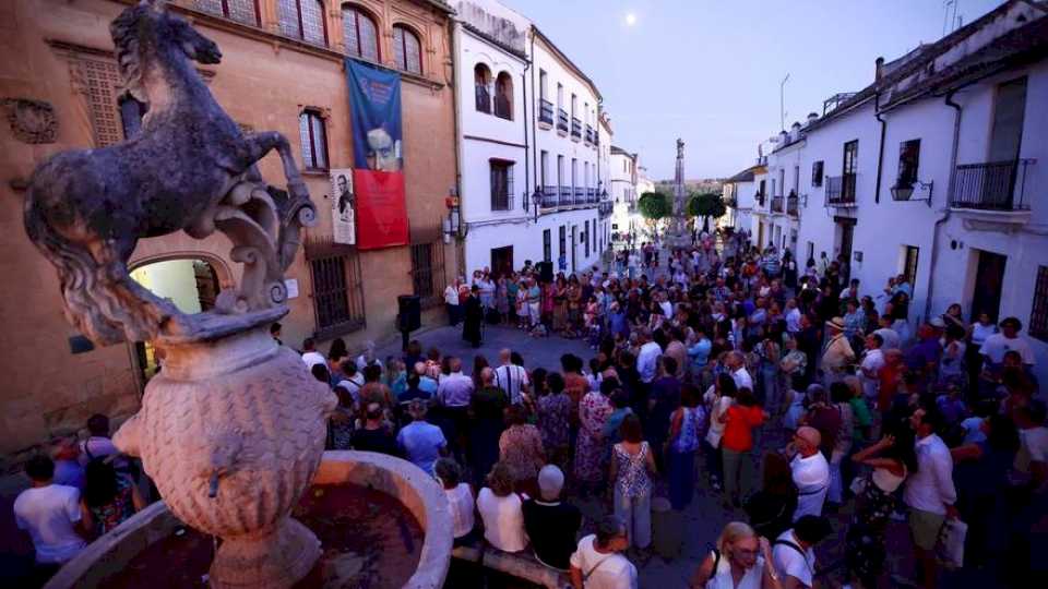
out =
[[(67, 316), (99, 345), (194, 337), (282, 306), (284, 269), (315, 208), (281, 133), (245, 134), (218, 106), (190, 60), (218, 63), (214, 41), (143, 0), (110, 25), (124, 89), (148, 105), (141, 133), (98, 149), (56, 155), (33, 173), (25, 200), (29, 239), (58, 268)], [(255, 163), (276, 149), (287, 192), (261, 181)], [(245, 264), (211, 320), (180, 313), (136, 284), (128, 260), (138, 240), (184, 230), (224, 232)], [(278, 313), (283, 314), (283, 313)]]

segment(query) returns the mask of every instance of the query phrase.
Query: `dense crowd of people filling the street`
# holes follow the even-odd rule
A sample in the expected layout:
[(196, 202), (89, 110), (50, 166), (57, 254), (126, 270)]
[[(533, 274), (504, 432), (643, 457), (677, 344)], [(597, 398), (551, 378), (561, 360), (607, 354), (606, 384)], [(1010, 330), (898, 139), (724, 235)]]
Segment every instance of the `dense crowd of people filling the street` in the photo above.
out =
[[(688, 250), (622, 251), (606, 271), (544, 281), (527, 264), (445, 291), (474, 346), (484, 322), (508, 323), (586, 337), (588, 360), (465, 359), (419, 341), (354, 357), (341, 339), (326, 354), (306, 340), (302, 360), (338, 397), (329, 448), (414, 462), (444, 488), (456, 544), (532, 554), (579, 588), (635, 587), (652, 500), (682, 510), (696, 491), (740, 520), (694, 563), (694, 587), (878, 587), (893, 520), (916, 563), (895, 573), (916, 584), (939, 582), (937, 544), (958, 519), (965, 566), (1044, 579), (1031, 522), (1046, 514), (1048, 428), (1022, 324), (968, 324), (954, 304), (912, 329), (912, 297), (906, 275), (865, 290), (846, 260), (801, 267), (745, 232), (703, 233)], [(585, 500), (607, 516), (577, 539)], [(834, 529), (844, 557), (817, 566)]]

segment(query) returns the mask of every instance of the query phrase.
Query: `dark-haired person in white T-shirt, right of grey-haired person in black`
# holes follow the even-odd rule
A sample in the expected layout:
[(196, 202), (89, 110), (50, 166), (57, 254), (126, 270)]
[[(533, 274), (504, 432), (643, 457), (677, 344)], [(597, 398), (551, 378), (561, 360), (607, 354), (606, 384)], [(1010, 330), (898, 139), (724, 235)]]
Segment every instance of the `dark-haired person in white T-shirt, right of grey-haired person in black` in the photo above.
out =
[(622, 551), (630, 548), (626, 525), (607, 515), (592, 533), (579, 541), (571, 555), (571, 586), (574, 589), (636, 589), (636, 567)]

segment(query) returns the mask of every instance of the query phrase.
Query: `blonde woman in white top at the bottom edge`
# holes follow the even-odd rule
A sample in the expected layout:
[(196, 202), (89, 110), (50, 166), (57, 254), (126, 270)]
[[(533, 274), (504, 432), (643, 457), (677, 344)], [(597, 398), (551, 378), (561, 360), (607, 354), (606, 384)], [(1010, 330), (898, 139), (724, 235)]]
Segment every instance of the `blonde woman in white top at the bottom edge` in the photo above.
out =
[(717, 546), (706, 555), (691, 579), (694, 589), (779, 589), (772, 549), (748, 524), (724, 527)]

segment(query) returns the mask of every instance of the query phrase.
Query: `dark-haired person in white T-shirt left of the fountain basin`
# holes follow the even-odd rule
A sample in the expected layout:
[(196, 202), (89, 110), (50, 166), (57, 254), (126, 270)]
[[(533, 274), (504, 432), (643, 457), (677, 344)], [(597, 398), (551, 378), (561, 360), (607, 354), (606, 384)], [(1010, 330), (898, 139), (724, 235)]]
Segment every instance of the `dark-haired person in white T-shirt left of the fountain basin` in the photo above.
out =
[(14, 521), (33, 538), (36, 563), (53, 574), (87, 545), (76, 529), (82, 518), (80, 491), (52, 484), (55, 462), (47, 456), (31, 458), (25, 473), (33, 486), (14, 500)]

